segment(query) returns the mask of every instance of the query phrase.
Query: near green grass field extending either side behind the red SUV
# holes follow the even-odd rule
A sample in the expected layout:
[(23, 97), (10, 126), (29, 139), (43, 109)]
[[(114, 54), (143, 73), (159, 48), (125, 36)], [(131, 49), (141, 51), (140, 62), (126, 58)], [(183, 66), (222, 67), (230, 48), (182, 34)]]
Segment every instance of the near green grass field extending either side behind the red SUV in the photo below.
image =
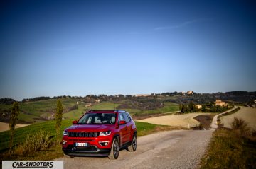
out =
[[(72, 123), (72, 120), (63, 120), (61, 125), (61, 131), (65, 128), (69, 127)], [(179, 129), (175, 127), (167, 127), (156, 124), (149, 124), (145, 122), (136, 122), (138, 136), (144, 136), (146, 134), (151, 134), (154, 132), (171, 130), (171, 129)], [(55, 121), (48, 122), (38, 122), (37, 124), (31, 124), (27, 127), (21, 127), (15, 130), (14, 134), (14, 145), (18, 146), (18, 144), (22, 144), (26, 139), (28, 134), (36, 134), (36, 132), (43, 130), (46, 132), (50, 132), (50, 136), (55, 137)], [(3, 155), (9, 149), (9, 131), (0, 132), (0, 157), (2, 159), (10, 159), (6, 158)], [(28, 156), (15, 156), (11, 159), (20, 159), (20, 160), (51, 160), (54, 158), (58, 158), (63, 156), (63, 152), (61, 151), (61, 146), (53, 146), (48, 148), (47, 150), (38, 151), (33, 153), (33, 155)]]

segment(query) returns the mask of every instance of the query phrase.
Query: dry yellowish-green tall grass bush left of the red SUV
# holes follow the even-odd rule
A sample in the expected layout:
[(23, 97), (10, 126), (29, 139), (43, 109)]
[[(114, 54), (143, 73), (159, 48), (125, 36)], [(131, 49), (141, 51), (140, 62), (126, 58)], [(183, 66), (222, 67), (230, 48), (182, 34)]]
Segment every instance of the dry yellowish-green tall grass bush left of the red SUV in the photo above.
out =
[(53, 144), (53, 140), (50, 138), (50, 133), (40, 130), (36, 134), (28, 134), (23, 144), (18, 145), (14, 149), (16, 155), (25, 155), (34, 153), (39, 150), (46, 149)]

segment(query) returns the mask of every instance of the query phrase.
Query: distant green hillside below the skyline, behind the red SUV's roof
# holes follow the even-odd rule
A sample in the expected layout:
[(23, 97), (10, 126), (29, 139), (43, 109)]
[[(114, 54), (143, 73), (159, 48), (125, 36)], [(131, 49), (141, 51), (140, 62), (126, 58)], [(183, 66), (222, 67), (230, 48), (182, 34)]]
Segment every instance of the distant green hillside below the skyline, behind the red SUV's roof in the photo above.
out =
[[(88, 110), (126, 110), (133, 117), (140, 115), (152, 115), (165, 112), (178, 111), (178, 104), (164, 102), (164, 103), (140, 103), (134, 100), (119, 100), (105, 101), (101, 103), (84, 103), (75, 98), (62, 98), (63, 103), (63, 118), (77, 120)], [(78, 105), (77, 105), (78, 101)], [(31, 124), (35, 122), (45, 122), (53, 120), (57, 99), (29, 101), (19, 103), (20, 115), (18, 115), (19, 124)], [(9, 113), (11, 111), (11, 105), (0, 104), (0, 121), (9, 122)]]

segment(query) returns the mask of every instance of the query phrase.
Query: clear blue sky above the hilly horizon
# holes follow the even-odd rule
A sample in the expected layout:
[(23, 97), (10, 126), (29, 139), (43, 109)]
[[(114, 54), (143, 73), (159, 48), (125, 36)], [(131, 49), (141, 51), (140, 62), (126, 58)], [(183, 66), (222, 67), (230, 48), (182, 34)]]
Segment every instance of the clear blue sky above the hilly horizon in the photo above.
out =
[(0, 3), (0, 98), (256, 91), (253, 1)]

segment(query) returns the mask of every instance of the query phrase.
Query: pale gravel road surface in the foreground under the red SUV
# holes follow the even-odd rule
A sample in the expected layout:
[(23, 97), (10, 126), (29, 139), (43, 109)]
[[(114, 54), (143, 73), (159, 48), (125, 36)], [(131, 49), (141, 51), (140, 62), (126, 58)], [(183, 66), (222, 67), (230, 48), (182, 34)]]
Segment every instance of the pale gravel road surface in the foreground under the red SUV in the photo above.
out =
[(59, 158), (64, 168), (198, 168), (212, 130), (176, 130), (139, 137), (137, 151), (107, 157)]

